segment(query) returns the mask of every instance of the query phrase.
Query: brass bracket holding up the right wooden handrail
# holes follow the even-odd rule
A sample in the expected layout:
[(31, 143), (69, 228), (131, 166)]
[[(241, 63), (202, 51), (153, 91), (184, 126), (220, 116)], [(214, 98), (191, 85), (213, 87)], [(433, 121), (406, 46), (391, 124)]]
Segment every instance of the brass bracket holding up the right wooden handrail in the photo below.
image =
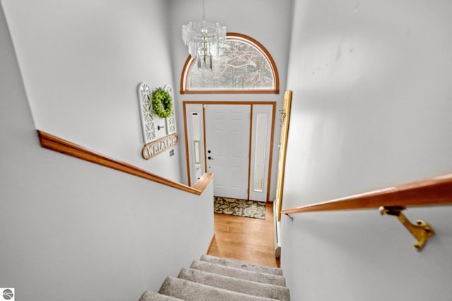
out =
[(403, 226), (410, 231), (410, 233), (416, 238), (417, 242), (415, 243), (415, 248), (417, 251), (422, 250), (425, 243), (429, 238), (434, 235), (434, 230), (429, 223), (422, 221), (421, 219), (416, 220), (416, 224), (411, 223), (402, 213), (405, 207), (403, 206), (388, 206), (388, 207), (379, 207), (379, 211), (381, 215), (388, 214), (397, 216), (398, 220), (403, 223)]

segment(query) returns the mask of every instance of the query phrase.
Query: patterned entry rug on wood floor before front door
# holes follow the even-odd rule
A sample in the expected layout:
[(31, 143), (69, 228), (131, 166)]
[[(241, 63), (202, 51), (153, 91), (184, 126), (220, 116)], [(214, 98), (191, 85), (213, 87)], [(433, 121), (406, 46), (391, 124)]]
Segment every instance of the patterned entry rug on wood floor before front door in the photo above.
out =
[(215, 213), (266, 219), (266, 203), (247, 201), (246, 199), (230, 199), (229, 197), (213, 197)]

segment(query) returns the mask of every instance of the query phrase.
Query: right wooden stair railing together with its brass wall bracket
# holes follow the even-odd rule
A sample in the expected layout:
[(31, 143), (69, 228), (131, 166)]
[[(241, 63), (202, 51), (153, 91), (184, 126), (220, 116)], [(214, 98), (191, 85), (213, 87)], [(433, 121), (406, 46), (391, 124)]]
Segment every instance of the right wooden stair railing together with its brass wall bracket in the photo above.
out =
[(283, 209), (292, 219), (291, 214), (314, 211), (378, 209), (381, 214), (397, 216), (405, 228), (416, 238), (416, 250), (422, 250), (429, 238), (434, 235), (432, 226), (422, 220), (415, 224), (408, 221), (402, 210), (408, 207), (429, 207), (452, 205), (452, 173), (418, 180), (390, 188), (383, 188), (359, 195), (351, 195), (328, 202), (319, 202), (306, 206)]

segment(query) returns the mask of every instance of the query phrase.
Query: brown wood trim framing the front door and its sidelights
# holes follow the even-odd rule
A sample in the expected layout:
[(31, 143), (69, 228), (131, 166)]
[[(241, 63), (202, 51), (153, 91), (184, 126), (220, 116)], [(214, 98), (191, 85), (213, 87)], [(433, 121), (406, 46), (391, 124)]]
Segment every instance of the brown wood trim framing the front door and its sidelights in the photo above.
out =
[(207, 168), (207, 157), (206, 157), (206, 112), (204, 105), (211, 104), (226, 104), (226, 105), (249, 105), (251, 116), (250, 116), (250, 140), (249, 140), (249, 157), (248, 157), (248, 192), (247, 198), (249, 199), (249, 185), (251, 184), (251, 141), (252, 141), (252, 125), (253, 125), (253, 106), (254, 105), (270, 105), (272, 106), (272, 118), (271, 118), (271, 133), (270, 133), (270, 149), (268, 154), (268, 174), (267, 174), (267, 193), (266, 193), (266, 203), (270, 202), (270, 184), (271, 184), (271, 172), (272, 172), (272, 164), (273, 164), (273, 140), (275, 137), (275, 118), (276, 118), (276, 102), (254, 102), (254, 101), (196, 101), (196, 100), (187, 100), (182, 101), (183, 111), (184, 111), (184, 137), (185, 137), (185, 158), (186, 158), (186, 173), (188, 179), (188, 185), (191, 186), (191, 171), (190, 171), (190, 157), (189, 157), (189, 140), (188, 140), (188, 131), (187, 131), (187, 121), (186, 121), (186, 105), (187, 104), (201, 104), (203, 107), (203, 140), (204, 140), (204, 169)]

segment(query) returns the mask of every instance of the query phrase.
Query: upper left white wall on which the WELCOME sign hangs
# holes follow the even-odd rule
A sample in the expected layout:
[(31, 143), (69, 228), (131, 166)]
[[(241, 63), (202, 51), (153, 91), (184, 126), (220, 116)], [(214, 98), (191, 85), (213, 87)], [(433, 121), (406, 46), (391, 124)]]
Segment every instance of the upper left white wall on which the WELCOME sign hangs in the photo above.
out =
[(141, 157), (138, 84), (174, 87), (166, 1), (2, 4), (37, 129), (180, 180), (179, 146)]

